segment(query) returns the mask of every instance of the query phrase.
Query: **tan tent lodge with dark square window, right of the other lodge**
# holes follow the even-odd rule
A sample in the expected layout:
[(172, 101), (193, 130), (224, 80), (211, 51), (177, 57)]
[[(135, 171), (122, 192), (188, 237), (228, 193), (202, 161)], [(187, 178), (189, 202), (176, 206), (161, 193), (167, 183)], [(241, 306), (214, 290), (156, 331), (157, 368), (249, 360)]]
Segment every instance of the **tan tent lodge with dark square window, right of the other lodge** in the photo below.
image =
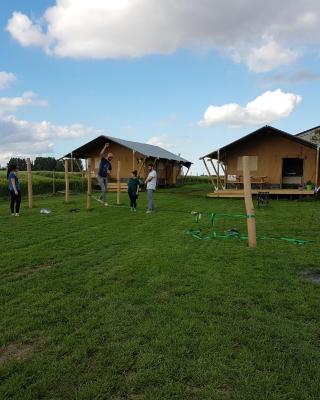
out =
[(276, 195), (313, 194), (305, 184), (311, 181), (319, 185), (319, 146), (304, 138), (306, 132), (291, 135), (264, 126), (201, 157), (214, 187), (209, 196), (243, 196), (244, 155), (249, 156), (253, 193), (267, 190)]

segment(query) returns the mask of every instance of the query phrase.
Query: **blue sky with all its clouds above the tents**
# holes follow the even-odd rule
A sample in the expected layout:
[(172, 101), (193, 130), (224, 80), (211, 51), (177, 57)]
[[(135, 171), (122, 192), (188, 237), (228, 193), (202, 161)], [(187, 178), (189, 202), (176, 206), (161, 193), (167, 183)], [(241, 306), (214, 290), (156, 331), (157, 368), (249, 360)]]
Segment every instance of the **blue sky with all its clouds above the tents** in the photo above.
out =
[(320, 125), (318, 0), (1, 0), (0, 164), (98, 135), (199, 157)]

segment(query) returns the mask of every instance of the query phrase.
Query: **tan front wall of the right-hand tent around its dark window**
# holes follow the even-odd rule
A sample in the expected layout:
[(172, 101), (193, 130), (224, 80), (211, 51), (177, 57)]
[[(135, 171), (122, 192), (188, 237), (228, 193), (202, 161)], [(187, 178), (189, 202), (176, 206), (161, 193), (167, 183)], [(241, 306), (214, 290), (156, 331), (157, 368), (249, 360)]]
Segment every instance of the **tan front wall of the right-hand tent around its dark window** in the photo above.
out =
[[(220, 160), (226, 166), (226, 175), (242, 174), (239, 159), (244, 155), (251, 156), (252, 164), (256, 164), (257, 168), (255, 165), (250, 166), (251, 176), (266, 176), (267, 182), (271, 185), (281, 185), (284, 158), (303, 159), (304, 182), (308, 180), (316, 182), (317, 150), (307, 144), (300, 144), (289, 138), (272, 134), (265, 135), (263, 138), (258, 135), (250, 137), (221, 152)], [(256, 163), (254, 158), (256, 158)]]

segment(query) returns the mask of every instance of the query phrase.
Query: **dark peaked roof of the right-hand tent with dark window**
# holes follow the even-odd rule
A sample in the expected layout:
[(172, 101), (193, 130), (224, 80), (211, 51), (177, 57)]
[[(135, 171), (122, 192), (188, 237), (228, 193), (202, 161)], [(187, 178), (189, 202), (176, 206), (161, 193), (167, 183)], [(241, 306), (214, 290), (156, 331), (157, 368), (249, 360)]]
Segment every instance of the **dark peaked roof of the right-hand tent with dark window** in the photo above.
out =
[(303, 146), (311, 147), (311, 148), (314, 148), (314, 149), (317, 148), (317, 146), (315, 144), (310, 143), (310, 142), (308, 142), (308, 141), (306, 141), (304, 139), (301, 139), (298, 136), (291, 135), (290, 133), (287, 133), (287, 132), (281, 131), (280, 129), (276, 129), (276, 128), (272, 127), (272, 126), (266, 125), (266, 126), (263, 126), (262, 128), (257, 129), (254, 132), (249, 133), (248, 135), (245, 135), (245, 136), (241, 137), (238, 140), (235, 140), (232, 143), (227, 144), (226, 146), (221, 147), (220, 149), (214, 150), (211, 153), (206, 154), (205, 156), (201, 157), (200, 159), (203, 159), (203, 158), (206, 158), (206, 157), (217, 159), (218, 151), (220, 153), (221, 152), (225, 152), (227, 150), (230, 150), (230, 149), (236, 147), (240, 143), (243, 143), (243, 142), (245, 142), (247, 140), (250, 140), (254, 136), (258, 136), (258, 135), (266, 136), (268, 134), (276, 134), (278, 136), (285, 137), (286, 139), (289, 139), (289, 140), (292, 140), (292, 141), (297, 142), (299, 144), (302, 144)]

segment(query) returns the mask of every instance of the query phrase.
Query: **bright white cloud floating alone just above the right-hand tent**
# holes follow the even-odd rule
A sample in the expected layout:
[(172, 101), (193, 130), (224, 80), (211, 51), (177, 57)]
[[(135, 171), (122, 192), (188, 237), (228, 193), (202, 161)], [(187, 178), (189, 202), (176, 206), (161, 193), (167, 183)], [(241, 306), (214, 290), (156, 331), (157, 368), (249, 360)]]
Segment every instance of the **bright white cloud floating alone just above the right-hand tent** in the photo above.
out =
[(288, 117), (302, 98), (293, 93), (284, 93), (278, 89), (267, 91), (248, 103), (245, 107), (231, 103), (222, 106), (209, 106), (201, 126), (227, 124), (237, 127), (244, 125), (270, 124), (281, 118)]

